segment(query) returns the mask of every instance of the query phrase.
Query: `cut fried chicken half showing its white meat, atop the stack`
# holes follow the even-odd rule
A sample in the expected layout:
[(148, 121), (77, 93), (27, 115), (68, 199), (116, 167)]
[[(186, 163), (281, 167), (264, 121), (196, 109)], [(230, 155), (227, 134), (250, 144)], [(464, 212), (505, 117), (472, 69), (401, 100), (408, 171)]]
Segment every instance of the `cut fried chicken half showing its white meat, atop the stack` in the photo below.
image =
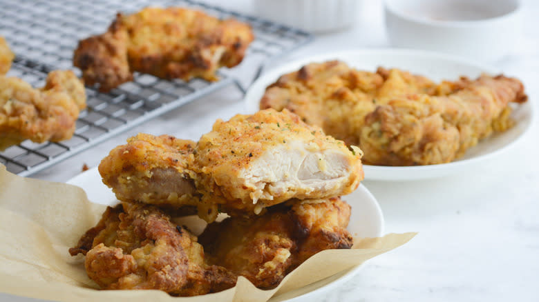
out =
[(227, 213), (350, 194), (363, 179), (361, 150), (351, 148), (288, 110), (238, 114), (200, 137), (195, 185)]

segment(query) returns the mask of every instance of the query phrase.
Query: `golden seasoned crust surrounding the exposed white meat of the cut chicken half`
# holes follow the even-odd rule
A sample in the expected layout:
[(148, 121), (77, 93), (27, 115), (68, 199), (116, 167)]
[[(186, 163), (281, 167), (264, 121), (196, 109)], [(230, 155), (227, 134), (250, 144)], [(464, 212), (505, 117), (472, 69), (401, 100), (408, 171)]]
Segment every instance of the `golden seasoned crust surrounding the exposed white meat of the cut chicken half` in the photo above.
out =
[[(339, 185), (327, 190), (290, 187), (281, 192), (259, 190), (245, 180), (244, 171), (276, 147), (295, 148), (301, 142), (309, 152), (332, 150), (342, 155), (349, 169)], [(361, 150), (350, 150), (342, 141), (325, 135), (316, 127), (303, 123), (288, 110), (261, 110), (252, 115), (238, 114), (229, 121), (218, 120), (211, 132), (202, 135), (196, 147), (197, 190), (203, 199), (223, 203), (227, 208), (256, 211), (292, 198), (316, 199), (350, 194), (363, 180)], [(267, 183), (267, 186), (271, 183)], [(261, 186), (261, 185), (260, 185)], [(228, 209), (225, 209), (227, 212)]]

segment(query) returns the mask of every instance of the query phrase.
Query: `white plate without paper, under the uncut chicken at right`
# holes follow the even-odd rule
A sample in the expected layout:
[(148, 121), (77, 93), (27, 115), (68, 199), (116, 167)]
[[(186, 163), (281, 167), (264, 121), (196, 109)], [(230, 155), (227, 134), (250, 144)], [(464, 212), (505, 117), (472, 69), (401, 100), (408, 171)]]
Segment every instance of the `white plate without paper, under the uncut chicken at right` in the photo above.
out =
[[(263, 96), (266, 87), (274, 83), (282, 74), (299, 70), (302, 66), (312, 62), (323, 62), (328, 60), (340, 60), (349, 66), (359, 70), (375, 71), (379, 66), (385, 68), (400, 68), (415, 74), (422, 74), (433, 81), (443, 79), (455, 80), (461, 75), (475, 78), (481, 73), (499, 74), (499, 70), (488, 66), (482, 66), (473, 61), (467, 61), (436, 52), (425, 52), (420, 50), (350, 50), (345, 52), (335, 52), (332, 54), (321, 54), (308, 57), (298, 61), (286, 63), (278, 66), (269, 72), (265, 72), (247, 90), (245, 94), (245, 110), (247, 113), (258, 111), (258, 103)], [(463, 170), (469, 170), (478, 163), (493, 159), (496, 156), (509, 150), (516, 141), (524, 136), (524, 133), (532, 124), (531, 101), (519, 105), (513, 110), (511, 116), (517, 121), (515, 127), (510, 130), (495, 134), (489, 139), (480, 141), (475, 147), (469, 149), (464, 157), (452, 163), (439, 165), (421, 165), (413, 167), (387, 167), (379, 165), (363, 165), (366, 180), (378, 181), (407, 181), (417, 179), (428, 179), (442, 177)]]

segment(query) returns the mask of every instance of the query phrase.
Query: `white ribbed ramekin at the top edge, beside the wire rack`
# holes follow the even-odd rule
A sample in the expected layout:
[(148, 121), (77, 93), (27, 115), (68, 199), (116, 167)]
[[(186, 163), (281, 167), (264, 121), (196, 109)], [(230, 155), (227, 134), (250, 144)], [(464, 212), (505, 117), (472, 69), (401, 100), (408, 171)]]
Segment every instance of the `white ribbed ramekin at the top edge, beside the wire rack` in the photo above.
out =
[(258, 16), (308, 32), (352, 26), (360, 0), (255, 0)]

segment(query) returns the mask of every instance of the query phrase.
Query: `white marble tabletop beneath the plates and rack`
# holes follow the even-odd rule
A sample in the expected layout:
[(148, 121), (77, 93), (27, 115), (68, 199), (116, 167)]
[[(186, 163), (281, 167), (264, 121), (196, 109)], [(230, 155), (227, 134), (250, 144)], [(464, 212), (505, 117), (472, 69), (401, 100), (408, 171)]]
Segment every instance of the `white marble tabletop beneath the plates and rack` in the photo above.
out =
[[(218, 1), (252, 12), (249, 0)], [(354, 28), (325, 34), (281, 61), (354, 48), (389, 47), (379, 1), (361, 6)], [(493, 1), (495, 3), (495, 1)], [(524, 81), (539, 108), (539, 1), (524, 1), (524, 31), (508, 57), (491, 65)], [(198, 139), (216, 118), (243, 110), (224, 88), (144, 123), (34, 177), (66, 181), (97, 165), (137, 132)], [(430, 181), (364, 184), (378, 199), (386, 232), (419, 234), (372, 259), (351, 281), (314, 301), (539, 301), (539, 119), (517, 148), (466, 174)], [(7, 298), (8, 296), (1, 296)]]

